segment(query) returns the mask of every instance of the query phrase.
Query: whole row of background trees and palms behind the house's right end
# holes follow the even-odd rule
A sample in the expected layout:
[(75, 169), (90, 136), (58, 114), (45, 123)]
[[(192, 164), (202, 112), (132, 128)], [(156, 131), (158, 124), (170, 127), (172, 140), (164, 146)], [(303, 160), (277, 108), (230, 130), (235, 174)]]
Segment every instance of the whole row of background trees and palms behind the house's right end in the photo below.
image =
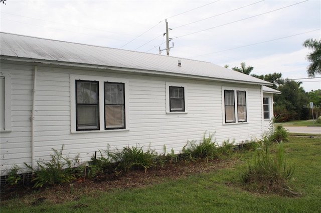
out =
[[(312, 50), (306, 55), (306, 59), (310, 62), (306, 70), (307, 76), (312, 78), (316, 74), (321, 74), (321, 39), (307, 39), (302, 45)], [(225, 67), (228, 68), (229, 65)], [(250, 75), (254, 67), (241, 62), (240, 67), (235, 66), (232, 69)], [(251, 74), (251, 76), (273, 83), (270, 87), (282, 92), (273, 94), (274, 114), (280, 115), (280, 121), (311, 119), (310, 102), (314, 105), (314, 118), (321, 115), (321, 88), (307, 92), (301, 86), (301, 81), (283, 79), (282, 73), (277, 72)]]

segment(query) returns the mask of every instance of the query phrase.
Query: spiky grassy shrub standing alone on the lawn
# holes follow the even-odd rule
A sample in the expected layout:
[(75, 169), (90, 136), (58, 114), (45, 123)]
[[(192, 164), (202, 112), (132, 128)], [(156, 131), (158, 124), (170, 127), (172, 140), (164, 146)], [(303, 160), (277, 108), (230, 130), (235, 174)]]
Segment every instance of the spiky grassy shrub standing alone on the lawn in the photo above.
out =
[(248, 162), (247, 170), (240, 173), (240, 179), (259, 191), (284, 191), (287, 180), (293, 175), (294, 166), (286, 164), (282, 142), (278, 144), (276, 156), (272, 157), (269, 154), (268, 139), (263, 140), (253, 162)]

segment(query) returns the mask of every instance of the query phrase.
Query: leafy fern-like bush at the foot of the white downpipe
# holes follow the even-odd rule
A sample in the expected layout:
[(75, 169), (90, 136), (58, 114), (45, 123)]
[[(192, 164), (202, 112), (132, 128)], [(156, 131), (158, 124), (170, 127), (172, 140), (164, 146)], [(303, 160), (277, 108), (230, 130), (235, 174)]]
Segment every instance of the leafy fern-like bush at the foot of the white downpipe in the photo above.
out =
[(38, 169), (34, 169), (32, 166), (25, 163), (35, 173), (35, 178), (31, 181), (36, 181), (34, 187), (42, 187), (43, 185), (57, 185), (61, 183), (70, 182), (76, 179), (76, 173), (81, 167), (76, 167), (75, 164), (78, 161), (77, 158), (70, 160), (68, 157), (64, 157), (63, 152), (64, 145), (60, 150), (52, 148), (54, 154), (50, 154), (51, 160), (45, 161), (40, 159), (37, 161)]

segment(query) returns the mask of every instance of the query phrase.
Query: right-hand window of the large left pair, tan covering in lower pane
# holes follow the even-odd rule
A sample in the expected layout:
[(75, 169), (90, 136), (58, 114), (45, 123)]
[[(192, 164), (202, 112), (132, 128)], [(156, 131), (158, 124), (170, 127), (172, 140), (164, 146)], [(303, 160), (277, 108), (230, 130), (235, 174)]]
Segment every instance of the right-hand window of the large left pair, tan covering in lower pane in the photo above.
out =
[(105, 82), (105, 129), (125, 128), (124, 83)]

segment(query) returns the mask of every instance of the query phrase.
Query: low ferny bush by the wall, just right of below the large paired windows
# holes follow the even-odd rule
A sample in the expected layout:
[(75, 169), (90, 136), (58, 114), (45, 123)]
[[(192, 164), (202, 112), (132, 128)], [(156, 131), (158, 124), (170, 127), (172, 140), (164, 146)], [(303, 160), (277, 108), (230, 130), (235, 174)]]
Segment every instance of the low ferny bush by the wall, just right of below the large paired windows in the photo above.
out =
[(137, 146), (124, 147), (118, 152), (108, 152), (108, 156), (116, 162), (116, 169), (131, 170), (143, 168), (145, 171), (147, 168), (154, 166), (154, 159), (156, 154), (154, 151), (148, 149), (143, 151), (142, 147)]

